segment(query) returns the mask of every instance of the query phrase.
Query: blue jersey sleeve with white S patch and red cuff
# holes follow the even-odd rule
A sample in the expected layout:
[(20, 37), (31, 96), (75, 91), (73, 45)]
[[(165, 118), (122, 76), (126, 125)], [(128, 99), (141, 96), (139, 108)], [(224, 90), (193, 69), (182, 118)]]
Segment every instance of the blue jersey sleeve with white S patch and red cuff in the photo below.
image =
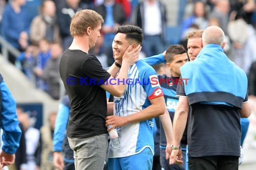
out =
[(161, 89), (158, 81), (158, 75), (152, 67), (146, 67), (142, 71), (143, 88), (146, 91), (149, 100), (163, 96), (163, 90)]

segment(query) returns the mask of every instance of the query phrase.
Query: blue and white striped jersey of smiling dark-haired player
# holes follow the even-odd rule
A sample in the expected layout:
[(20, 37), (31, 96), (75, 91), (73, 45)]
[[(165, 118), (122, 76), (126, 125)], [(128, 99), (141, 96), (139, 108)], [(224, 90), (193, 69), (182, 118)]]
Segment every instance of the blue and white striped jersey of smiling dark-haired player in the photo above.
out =
[[(157, 84), (152, 81), (153, 79)], [(138, 113), (151, 105), (150, 99), (159, 96), (163, 96), (163, 91), (157, 73), (145, 61), (139, 60), (128, 71), (128, 82), (123, 96), (114, 98), (114, 115), (125, 117)], [(109, 157), (131, 156), (140, 153), (146, 147), (154, 154), (153, 127), (152, 119), (118, 127), (121, 147), (110, 149)]]

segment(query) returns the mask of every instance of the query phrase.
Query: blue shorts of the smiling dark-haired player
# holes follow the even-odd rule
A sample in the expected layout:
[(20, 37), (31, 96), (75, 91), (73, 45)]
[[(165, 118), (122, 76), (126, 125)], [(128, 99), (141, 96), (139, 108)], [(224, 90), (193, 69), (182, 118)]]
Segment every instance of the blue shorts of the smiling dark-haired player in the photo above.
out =
[(152, 170), (153, 153), (150, 148), (145, 148), (141, 153), (128, 157), (109, 158), (109, 170)]

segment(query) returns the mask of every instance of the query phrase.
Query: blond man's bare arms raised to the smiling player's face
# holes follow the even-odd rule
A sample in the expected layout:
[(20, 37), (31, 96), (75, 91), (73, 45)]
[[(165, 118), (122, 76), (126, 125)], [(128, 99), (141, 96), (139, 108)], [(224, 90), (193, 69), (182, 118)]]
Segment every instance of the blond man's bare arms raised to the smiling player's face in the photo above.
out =
[[(101, 87), (108, 91), (110, 94), (121, 97), (124, 94), (126, 88), (126, 80), (128, 78), (128, 70), (130, 65), (135, 64), (135, 62), (139, 59), (139, 52), (141, 51), (141, 46), (138, 45), (135, 49), (131, 51), (132, 47), (129, 46), (127, 50), (124, 52), (122, 66), (119, 68), (113, 64), (108, 72), (110, 72), (111, 76), (109, 78), (109, 82), (105, 82)], [(117, 72), (119, 71), (118, 76), (115, 77)], [(115, 78), (114, 78), (114, 77)]]

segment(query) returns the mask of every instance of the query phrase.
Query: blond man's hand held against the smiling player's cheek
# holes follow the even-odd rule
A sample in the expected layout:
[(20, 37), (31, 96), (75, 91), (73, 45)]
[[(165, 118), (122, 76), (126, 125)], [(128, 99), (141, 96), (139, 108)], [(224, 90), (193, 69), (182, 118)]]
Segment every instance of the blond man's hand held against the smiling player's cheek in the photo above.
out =
[(141, 45), (138, 45), (136, 48), (132, 50), (132, 46), (129, 46), (123, 55), (123, 64), (129, 64), (132, 66), (139, 59), (139, 54), (141, 51)]

